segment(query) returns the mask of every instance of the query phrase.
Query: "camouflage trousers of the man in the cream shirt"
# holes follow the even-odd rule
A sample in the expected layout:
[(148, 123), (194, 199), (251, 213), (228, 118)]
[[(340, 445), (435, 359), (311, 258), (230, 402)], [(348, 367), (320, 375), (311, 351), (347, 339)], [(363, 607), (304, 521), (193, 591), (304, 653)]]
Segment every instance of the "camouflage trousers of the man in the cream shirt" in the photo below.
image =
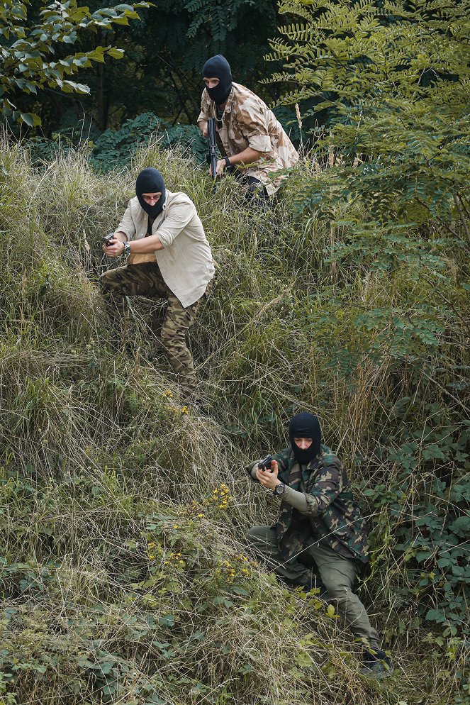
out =
[(153, 330), (160, 328), (160, 343), (168, 355), (173, 371), (179, 377), (181, 387), (192, 394), (197, 387), (196, 374), (191, 353), (186, 345), (186, 333), (196, 318), (201, 299), (191, 306), (182, 306), (179, 299), (167, 287), (157, 262), (142, 262), (140, 265), (116, 267), (101, 274), (101, 293), (111, 316), (125, 311), (124, 296), (148, 296), (150, 299), (167, 299), (167, 309), (162, 326), (157, 317), (152, 321)]

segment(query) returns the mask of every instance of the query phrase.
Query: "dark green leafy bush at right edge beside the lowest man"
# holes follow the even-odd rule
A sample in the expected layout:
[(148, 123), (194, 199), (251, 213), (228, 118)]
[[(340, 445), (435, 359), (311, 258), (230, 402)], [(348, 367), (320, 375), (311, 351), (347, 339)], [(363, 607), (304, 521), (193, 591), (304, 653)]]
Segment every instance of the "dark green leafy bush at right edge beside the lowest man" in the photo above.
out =
[[(396, 404), (397, 416), (412, 409), (409, 398)], [(413, 595), (418, 614), (444, 625), (444, 637), (455, 637), (469, 631), (464, 540), (470, 526), (470, 423), (449, 424), (437, 404), (429, 412), (432, 424), (419, 433), (395, 433), (379, 450), (380, 459), (398, 467), (393, 490), (378, 484), (364, 495), (379, 511), (376, 540), (386, 524), (396, 537), (395, 550), (403, 552), (407, 580), (401, 599)]]

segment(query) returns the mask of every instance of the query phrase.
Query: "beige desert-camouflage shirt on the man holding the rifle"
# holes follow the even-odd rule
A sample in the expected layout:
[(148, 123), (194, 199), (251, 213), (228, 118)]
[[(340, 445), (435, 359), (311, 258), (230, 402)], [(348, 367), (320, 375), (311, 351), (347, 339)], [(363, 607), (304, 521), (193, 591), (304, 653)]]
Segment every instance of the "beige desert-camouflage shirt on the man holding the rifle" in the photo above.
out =
[[(259, 179), (272, 196), (285, 178), (276, 177), (275, 173), (293, 167), (298, 160), (298, 153), (264, 101), (245, 86), (237, 83), (232, 86), (223, 111), (222, 127), (218, 131), (220, 140), (228, 157), (247, 147), (264, 153), (256, 164), (237, 168), (243, 170), (244, 176)], [(216, 104), (204, 89), (198, 122), (216, 117)]]

